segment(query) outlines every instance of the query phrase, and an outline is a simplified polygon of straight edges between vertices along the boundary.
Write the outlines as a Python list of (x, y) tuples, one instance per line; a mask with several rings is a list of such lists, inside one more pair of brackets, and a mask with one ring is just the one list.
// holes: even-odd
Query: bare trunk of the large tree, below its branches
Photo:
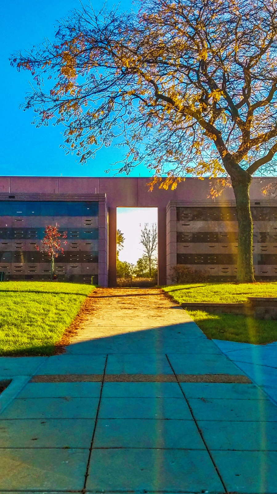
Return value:
[(237, 282), (253, 283), (253, 223), (250, 211), (249, 187), (251, 176), (243, 170), (240, 177), (232, 178), (232, 185), (236, 197), (238, 219), (238, 264)]

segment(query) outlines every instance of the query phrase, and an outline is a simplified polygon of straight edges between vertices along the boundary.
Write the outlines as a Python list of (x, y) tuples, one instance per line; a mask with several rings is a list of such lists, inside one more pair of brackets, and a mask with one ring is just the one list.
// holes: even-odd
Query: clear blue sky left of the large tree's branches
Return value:
[[(106, 1), (107, 7), (113, 4), (113, 0)], [(95, 9), (102, 5), (103, 0), (93, 2)], [(65, 155), (59, 147), (63, 143), (62, 127), (50, 124), (35, 128), (31, 124), (33, 111), (19, 109), (29, 90), (30, 74), (18, 73), (10, 67), (9, 56), (19, 49), (39, 44), (44, 37), (53, 39), (57, 20), (79, 6), (79, 0), (5, 0), (1, 3), (0, 175), (107, 176), (104, 170), (114, 161), (115, 153), (118, 156), (118, 150), (105, 148), (88, 165), (79, 165), (75, 156)], [(132, 1), (122, 0), (120, 8), (132, 8)], [(148, 176), (149, 172), (140, 165), (132, 175)]]

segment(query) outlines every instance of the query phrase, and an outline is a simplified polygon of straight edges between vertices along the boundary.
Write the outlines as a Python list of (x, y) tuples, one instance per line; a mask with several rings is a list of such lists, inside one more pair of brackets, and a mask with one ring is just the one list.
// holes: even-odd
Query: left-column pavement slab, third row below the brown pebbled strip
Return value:
[(0, 420), (0, 448), (90, 447), (94, 419)]

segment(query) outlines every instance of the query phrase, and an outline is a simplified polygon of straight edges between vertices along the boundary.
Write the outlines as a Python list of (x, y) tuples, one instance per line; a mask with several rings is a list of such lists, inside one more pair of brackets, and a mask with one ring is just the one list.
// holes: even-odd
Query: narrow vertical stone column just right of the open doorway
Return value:
[(170, 279), (171, 268), (177, 263), (176, 242), (176, 204), (169, 202), (167, 206), (167, 285), (172, 285)]

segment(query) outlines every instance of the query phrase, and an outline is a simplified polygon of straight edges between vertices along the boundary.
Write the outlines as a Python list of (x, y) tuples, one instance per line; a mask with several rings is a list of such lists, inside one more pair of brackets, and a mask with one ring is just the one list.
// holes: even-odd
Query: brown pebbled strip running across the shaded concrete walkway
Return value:
[(31, 383), (54, 382), (205, 382), (251, 384), (243, 374), (37, 374)]

